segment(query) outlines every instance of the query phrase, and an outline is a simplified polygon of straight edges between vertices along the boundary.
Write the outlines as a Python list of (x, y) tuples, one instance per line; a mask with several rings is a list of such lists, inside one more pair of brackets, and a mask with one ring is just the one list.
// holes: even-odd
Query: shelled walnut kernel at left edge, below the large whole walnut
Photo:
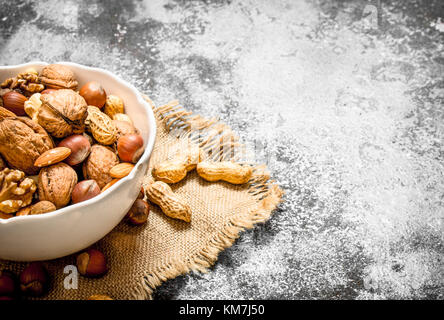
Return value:
[(36, 188), (35, 182), (25, 178), (23, 171), (3, 169), (0, 171), (0, 212), (14, 213), (26, 207)]

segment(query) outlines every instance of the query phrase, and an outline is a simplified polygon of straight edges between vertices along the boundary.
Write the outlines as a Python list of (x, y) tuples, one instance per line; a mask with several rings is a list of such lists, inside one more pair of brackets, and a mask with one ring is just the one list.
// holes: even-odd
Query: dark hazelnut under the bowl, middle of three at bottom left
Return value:
[(20, 290), (34, 297), (46, 293), (49, 284), (48, 272), (41, 262), (31, 262), (20, 274)]

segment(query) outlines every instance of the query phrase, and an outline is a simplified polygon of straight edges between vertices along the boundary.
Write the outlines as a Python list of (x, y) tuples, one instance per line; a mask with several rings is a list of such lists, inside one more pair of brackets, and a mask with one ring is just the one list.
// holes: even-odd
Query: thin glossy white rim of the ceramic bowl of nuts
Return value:
[[(42, 66), (46, 66), (49, 64), (50, 63), (44, 62), (44, 61), (31, 61), (31, 62), (17, 64), (17, 65), (11, 65), (11, 66), (1, 66), (0, 65), (0, 71), (1, 70), (8, 70), (8, 69), (23, 68), (23, 67), (33, 67), (33, 66), (42, 67)], [(86, 200), (86, 201), (83, 201), (80, 203), (68, 205), (66, 207), (63, 207), (63, 208), (57, 209), (53, 212), (48, 212), (45, 214), (38, 214), (38, 215), (31, 215), (31, 216), (18, 216), (18, 217), (14, 216), (9, 219), (0, 219), (0, 226), (1, 225), (8, 225), (8, 224), (22, 224), (22, 223), (26, 223), (27, 221), (38, 221), (38, 220), (51, 219), (51, 218), (58, 217), (60, 215), (64, 215), (70, 211), (82, 210), (84, 207), (87, 207), (93, 203), (99, 202), (103, 198), (105, 198), (108, 194), (116, 191), (119, 188), (119, 186), (121, 186), (125, 182), (133, 180), (135, 178), (136, 172), (140, 170), (140, 167), (142, 166), (142, 164), (149, 161), (149, 158), (150, 158), (151, 153), (153, 151), (154, 142), (156, 139), (156, 132), (157, 132), (154, 112), (153, 112), (151, 106), (148, 104), (148, 102), (142, 97), (142, 94), (139, 92), (139, 90), (136, 89), (136, 87), (134, 87), (131, 83), (123, 80), (121, 77), (115, 75), (114, 73), (112, 73), (108, 70), (102, 69), (102, 68), (89, 67), (89, 66), (85, 66), (85, 65), (82, 65), (79, 63), (69, 62), (69, 61), (59, 61), (59, 62), (55, 62), (54, 64), (62, 64), (62, 65), (66, 65), (68, 67), (73, 66), (76, 68), (83, 69), (85, 71), (99, 72), (99, 73), (102, 73), (102, 74), (112, 78), (119, 85), (125, 86), (128, 89), (130, 89), (130, 91), (132, 91), (134, 93), (134, 95), (136, 96), (137, 101), (143, 106), (143, 108), (145, 108), (147, 115), (148, 115), (148, 123), (149, 123), (150, 128), (148, 130), (148, 141), (146, 143), (145, 151), (142, 154), (142, 156), (140, 157), (139, 161), (137, 161), (133, 170), (131, 170), (131, 172), (128, 176), (121, 178), (111, 188), (108, 188), (104, 192), (101, 192), (98, 196), (95, 196), (94, 198), (91, 198), (89, 200)]]

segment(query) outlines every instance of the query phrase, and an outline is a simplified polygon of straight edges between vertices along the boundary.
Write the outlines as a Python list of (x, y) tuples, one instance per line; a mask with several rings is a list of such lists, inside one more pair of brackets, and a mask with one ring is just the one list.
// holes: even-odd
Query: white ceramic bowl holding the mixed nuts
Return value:
[[(121, 97), (145, 141), (145, 152), (127, 177), (88, 201), (34, 216), (0, 219), (0, 258), (14, 261), (49, 260), (80, 251), (103, 238), (125, 216), (140, 192), (142, 178), (154, 146), (156, 122), (151, 107), (131, 84), (112, 73), (70, 62), (59, 62), (74, 71), (79, 88), (98, 81), (107, 94)], [(40, 71), (47, 63), (0, 66), (0, 81), (27, 68)]]

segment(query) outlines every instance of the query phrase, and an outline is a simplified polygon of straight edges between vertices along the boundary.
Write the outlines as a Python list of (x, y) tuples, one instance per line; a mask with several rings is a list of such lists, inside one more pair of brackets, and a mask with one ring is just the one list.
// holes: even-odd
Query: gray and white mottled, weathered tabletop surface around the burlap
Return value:
[(157, 299), (443, 299), (443, 4), (0, 1), (0, 65), (106, 68), (268, 151), (285, 203)]

